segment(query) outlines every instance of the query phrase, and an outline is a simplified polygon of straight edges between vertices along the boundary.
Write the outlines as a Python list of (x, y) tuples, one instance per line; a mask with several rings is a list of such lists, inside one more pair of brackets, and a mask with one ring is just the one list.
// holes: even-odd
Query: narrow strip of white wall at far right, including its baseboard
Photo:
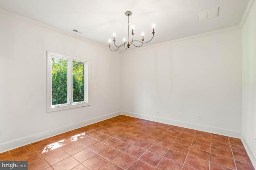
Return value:
[(256, 167), (256, 3), (242, 27), (242, 139)]

